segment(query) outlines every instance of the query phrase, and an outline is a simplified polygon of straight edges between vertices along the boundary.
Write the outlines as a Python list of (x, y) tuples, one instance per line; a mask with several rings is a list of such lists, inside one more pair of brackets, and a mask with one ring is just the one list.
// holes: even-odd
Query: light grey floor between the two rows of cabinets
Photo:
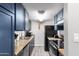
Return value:
[(31, 56), (49, 56), (49, 53), (44, 51), (44, 47), (34, 47)]

